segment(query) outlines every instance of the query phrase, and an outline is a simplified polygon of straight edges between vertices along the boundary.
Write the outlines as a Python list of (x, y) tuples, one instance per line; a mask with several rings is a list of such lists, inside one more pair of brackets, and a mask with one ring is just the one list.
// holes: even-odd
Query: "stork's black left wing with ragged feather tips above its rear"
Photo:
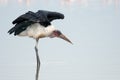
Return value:
[(19, 16), (15, 19), (12, 23), (15, 24), (13, 28), (11, 28), (8, 33), (14, 35), (19, 34), (20, 32), (24, 31), (29, 25), (37, 22), (37, 17), (34, 12), (28, 11), (27, 13)]

